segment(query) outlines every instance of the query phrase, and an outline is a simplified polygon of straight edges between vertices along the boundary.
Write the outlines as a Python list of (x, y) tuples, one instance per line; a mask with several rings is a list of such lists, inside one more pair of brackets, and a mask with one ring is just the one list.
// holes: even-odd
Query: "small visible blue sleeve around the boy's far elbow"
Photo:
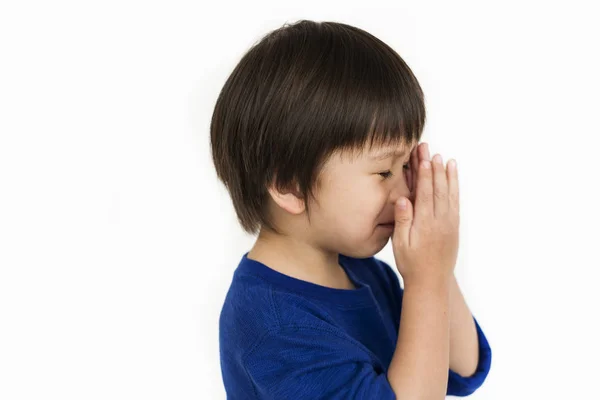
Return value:
[(473, 317), (473, 321), (475, 321), (475, 327), (477, 328), (477, 339), (479, 341), (479, 361), (477, 364), (477, 370), (473, 375), (464, 377), (450, 369), (448, 375), (448, 395), (460, 397), (470, 395), (483, 384), (483, 381), (490, 372), (492, 364), (492, 349), (475, 317)]

